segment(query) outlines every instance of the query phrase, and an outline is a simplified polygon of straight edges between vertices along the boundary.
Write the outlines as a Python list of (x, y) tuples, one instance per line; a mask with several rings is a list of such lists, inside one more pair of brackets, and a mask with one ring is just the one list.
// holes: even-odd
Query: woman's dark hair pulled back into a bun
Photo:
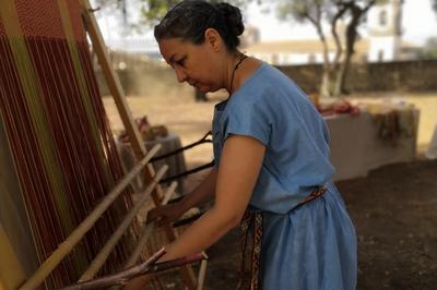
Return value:
[(155, 26), (154, 34), (157, 41), (180, 37), (200, 45), (208, 28), (216, 29), (231, 51), (238, 47), (238, 36), (245, 31), (245, 25), (239, 9), (234, 5), (188, 0), (173, 7)]

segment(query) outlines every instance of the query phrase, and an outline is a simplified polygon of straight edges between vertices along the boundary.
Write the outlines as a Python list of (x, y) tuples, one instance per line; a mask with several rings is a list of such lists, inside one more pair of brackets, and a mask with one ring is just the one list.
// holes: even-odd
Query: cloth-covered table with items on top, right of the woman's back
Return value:
[(412, 113), (414, 132), (411, 136), (400, 136), (395, 144), (378, 135), (378, 124), (367, 111), (355, 117), (326, 117), (331, 135), (331, 161), (336, 170), (334, 181), (365, 177), (383, 165), (414, 160), (420, 112), (417, 109), (405, 109), (404, 112)]

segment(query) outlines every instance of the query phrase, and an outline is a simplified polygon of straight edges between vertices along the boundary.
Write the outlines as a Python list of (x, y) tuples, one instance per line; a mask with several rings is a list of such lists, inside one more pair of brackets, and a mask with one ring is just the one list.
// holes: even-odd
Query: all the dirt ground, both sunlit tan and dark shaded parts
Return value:
[[(376, 94), (359, 99), (393, 95)], [(437, 289), (437, 160), (421, 157), (437, 123), (437, 94), (395, 96), (421, 109), (417, 160), (389, 165), (366, 178), (336, 183), (357, 230), (357, 289)], [(113, 100), (104, 101), (114, 130), (120, 131)], [(182, 144), (200, 138), (211, 126), (214, 105), (211, 101), (131, 97), (128, 102), (134, 117), (146, 114), (152, 124), (167, 125), (180, 135)], [(211, 147), (202, 145), (185, 158), (188, 168), (205, 164), (212, 158)], [(201, 174), (190, 178), (186, 184), (188, 191)], [(235, 289), (240, 259), (238, 231), (229, 232), (208, 254), (204, 289)]]

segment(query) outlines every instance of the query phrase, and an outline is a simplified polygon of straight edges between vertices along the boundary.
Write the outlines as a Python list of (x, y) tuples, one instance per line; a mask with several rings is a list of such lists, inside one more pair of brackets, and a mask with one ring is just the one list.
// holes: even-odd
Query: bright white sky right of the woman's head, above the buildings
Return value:
[[(423, 45), (428, 37), (437, 37), (437, 13), (432, 10), (432, 0), (404, 0), (402, 7), (403, 39)], [(245, 22), (257, 26), (261, 40), (318, 38), (312, 25), (281, 22), (274, 12), (263, 13), (262, 7), (250, 4)], [(262, 23), (262, 25), (261, 25)]]

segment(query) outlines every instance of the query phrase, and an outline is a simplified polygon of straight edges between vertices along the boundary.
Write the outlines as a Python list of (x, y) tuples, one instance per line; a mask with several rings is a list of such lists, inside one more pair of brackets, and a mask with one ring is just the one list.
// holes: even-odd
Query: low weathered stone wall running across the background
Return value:
[[(277, 67), (306, 93), (319, 90), (320, 64)], [(143, 65), (141, 69), (117, 71), (127, 95), (190, 94), (193, 89), (179, 84), (168, 65)], [(96, 72), (102, 95), (108, 94), (101, 71)], [(432, 92), (437, 90), (437, 60), (353, 64), (346, 76), (349, 92)]]

